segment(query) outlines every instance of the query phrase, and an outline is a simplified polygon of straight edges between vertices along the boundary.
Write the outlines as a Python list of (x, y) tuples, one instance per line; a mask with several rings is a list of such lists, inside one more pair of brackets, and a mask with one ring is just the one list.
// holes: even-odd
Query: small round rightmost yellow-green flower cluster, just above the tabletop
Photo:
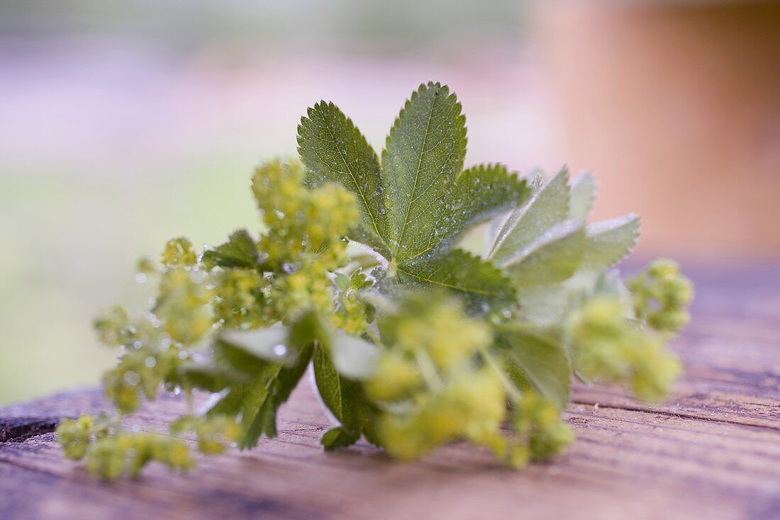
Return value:
[(690, 321), (688, 306), (693, 301), (693, 284), (679, 272), (679, 265), (668, 259), (655, 260), (630, 280), (637, 317), (668, 335)]

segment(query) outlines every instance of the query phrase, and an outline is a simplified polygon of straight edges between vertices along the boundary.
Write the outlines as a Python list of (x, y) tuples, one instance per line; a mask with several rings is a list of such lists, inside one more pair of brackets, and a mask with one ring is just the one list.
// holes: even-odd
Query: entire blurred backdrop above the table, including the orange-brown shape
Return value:
[(780, 3), (0, 0), (0, 405), (95, 384), (139, 256), (257, 218), (255, 164), (324, 98), (381, 150), (421, 82), (467, 163), (567, 163), (638, 256), (780, 260)]

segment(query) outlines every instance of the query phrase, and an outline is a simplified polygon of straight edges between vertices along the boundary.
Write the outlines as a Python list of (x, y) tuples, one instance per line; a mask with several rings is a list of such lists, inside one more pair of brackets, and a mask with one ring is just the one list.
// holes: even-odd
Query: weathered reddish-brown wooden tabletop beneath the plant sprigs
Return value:
[[(466, 445), (400, 463), (367, 444), (324, 453), (310, 384), (279, 437), (102, 484), (59, 453), (48, 421), (106, 410), (97, 389), (0, 409), (0, 519), (16, 518), (780, 518), (780, 269), (700, 272), (693, 324), (675, 348), (686, 376), (663, 405), (576, 387), (566, 455), (524, 472)], [(133, 419), (164, 428), (166, 397)], [(34, 425), (33, 437), (19, 429)], [(2, 428), (2, 426), (0, 426)], [(50, 429), (50, 428), (49, 428)], [(10, 432), (10, 428), (6, 428)], [(28, 432), (30, 433), (30, 432)]]

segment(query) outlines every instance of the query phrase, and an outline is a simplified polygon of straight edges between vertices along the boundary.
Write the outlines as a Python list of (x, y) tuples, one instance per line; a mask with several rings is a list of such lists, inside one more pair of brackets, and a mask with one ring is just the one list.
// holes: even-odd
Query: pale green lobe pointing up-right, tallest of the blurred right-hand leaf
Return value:
[(498, 228), (488, 259), (504, 267), (553, 226), (569, 217), (569, 171), (557, 175), (513, 210)]

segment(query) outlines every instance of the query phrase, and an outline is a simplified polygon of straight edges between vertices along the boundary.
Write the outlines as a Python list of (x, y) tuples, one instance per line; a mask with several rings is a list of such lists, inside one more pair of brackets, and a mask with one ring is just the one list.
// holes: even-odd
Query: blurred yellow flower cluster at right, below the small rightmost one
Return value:
[(567, 336), (575, 368), (591, 379), (627, 381), (637, 397), (656, 401), (679, 376), (679, 360), (661, 334), (625, 316), (617, 298), (592, 299), (573, 313)]

